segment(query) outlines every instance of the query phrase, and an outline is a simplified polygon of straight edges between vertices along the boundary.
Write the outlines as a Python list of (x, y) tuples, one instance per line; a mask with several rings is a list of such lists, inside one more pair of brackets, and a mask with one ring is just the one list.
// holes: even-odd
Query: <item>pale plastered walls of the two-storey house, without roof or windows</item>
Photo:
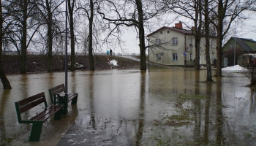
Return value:
[[(168, 31), (170, 31), (168, 33)], [(173, 45), (173, 38), (178, 38), (178, 45)], [(185, 39), (186, 38), (186, 39)], [(195, 59), (195, 38), (190, 35), (183, 34), (178, 31), (173, 31), (168, 28), (163, 28), (156, 33), (152, 34), (150, 37), (150, 55), (149, 60), (158, 64), (165, 64), (170, 66), (184, 66), (185, 59), (187, 61), (187, 66), (193, 65), (193, 60)], [(157, 39), (161, 40), (161, 45), (157, 45)], [(214, 39), (211, 39), (211, 42)], [(214, 40), (216, 41), (216, 40)], [(210, 42), (210, 44), (211, 44)], [(214, 46), (210, 49), (210, 56), (212, 57), (212, 51), (214, 51), (214, 58), (217, 58), (216, 52), (217, 42), (214, 42)], [(205, 39), (203, 38), (200, 42), (200, 64), (206, 64), (205, 60)], [(184, 56), (184, 52), (186, 56)], [(178, 61), (173, 61), (173, 53), (178, 56)], [(161, 55), (162, 54), (162, 55)], [(190, 55), (192, 54), (192, 55)], [(157, 61), (157, 55), (161, 55), (161, 60)], [(190, 58), (192, 56), (192, 58)], [(211, 59), (212, 61), (212, 59)]]

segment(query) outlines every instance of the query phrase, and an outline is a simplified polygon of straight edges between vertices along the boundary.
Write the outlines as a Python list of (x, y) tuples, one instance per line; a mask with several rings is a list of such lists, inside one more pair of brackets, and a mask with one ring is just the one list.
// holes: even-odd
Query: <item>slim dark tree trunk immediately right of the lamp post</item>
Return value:
[(74, 34), (74, 19), (73, 19), (73, 11), (74, 11), (74, 4), (75, 1), (72, 2), (71, 0), (68, 1), (69, 4), (69, 26), (70, 26), (70, 39), (71, 39), (71, 65), (70, 71), (75, 71), (75, 34)]

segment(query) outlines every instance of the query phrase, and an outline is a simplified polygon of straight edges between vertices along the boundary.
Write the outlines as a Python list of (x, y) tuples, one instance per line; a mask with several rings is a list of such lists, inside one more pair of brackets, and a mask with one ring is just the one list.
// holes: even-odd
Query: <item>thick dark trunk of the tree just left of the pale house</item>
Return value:
[(136, 0), (138, 10), (138, 29), (140, 39), (140, 70), (146, 70), (146, 47), (145, 47), (145, 31), (143, 24), (143, 8), (140, 0)]

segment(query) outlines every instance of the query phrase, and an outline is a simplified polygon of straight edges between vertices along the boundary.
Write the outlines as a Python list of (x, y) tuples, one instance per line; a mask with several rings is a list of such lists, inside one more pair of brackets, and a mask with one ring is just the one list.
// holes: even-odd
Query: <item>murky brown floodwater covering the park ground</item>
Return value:
[[(244, 74), (225, 71), (209, 83), (206, 70), (150, 71), (69, 72), (68, 92), (79, 93), (76, 130), (59, 145), (256, 145), (256, 92)], [(1, 139), (29, 131), (14, 102), (45, 92), (50, 103), (48, 89), (64, 83), (64, 72), (8, 79), (12, 89), (0, 89)]]

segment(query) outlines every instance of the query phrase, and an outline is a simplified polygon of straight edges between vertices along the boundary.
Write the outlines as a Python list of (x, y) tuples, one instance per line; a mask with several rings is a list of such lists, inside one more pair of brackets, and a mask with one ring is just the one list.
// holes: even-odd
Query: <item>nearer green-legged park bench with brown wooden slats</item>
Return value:
[[(23, 112), (31, 110), (39, 104), (45, 104), (45, 109), (37, 112), (32, 118), (26, 120), (21, 118)], [(38, 93), (29, 98), (15, 102), (16, 112), (18, 116), (18, 123), (31, 123), (31, 133), (29, 142), (38, 142), (42, 131), (42, 123), (54, 115), (54, 120), (61, 120), (63, 105), (48, 105), (45, 99), (45, 93)], [(24, 113), (25, 114), (25, 113)]]

